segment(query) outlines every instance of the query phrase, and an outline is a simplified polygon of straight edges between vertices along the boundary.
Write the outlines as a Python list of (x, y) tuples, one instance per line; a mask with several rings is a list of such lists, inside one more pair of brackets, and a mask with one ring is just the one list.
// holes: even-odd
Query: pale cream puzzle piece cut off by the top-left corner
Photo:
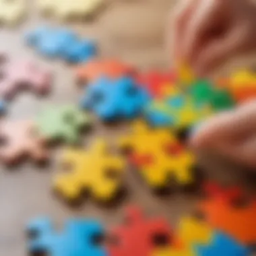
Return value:
[(22, 20), (26, 12), (26, 0), (0, 0), (0, 22), (15, 25)]

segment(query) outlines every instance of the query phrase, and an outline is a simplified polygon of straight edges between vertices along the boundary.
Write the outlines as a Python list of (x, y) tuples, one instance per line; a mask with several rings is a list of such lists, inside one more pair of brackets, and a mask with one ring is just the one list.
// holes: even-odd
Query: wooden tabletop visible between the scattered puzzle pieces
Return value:
[[(96, 13), (93, 19), (72, 22), (65, 26), (75, 29), (81, 35), (96, 38), (100, 46), (100, 57), (117, 57), (141, 70), (165, 70), (170, 65), (168, 53), (165, 51), (164, 35), (168, 13), (173, 4), (172, 0), (113, 0)], [(35, 9), (34, 1), (31, 1), (30, 8)], [(0, 30), (0, 49), (6, 51), (9, 57), (30, 57), (42, 66), (49, 67), (55, 75), (53, 91), (49, 96), (38, 98), (30, 93), (20, 94), (9, 104), (6, 119), (33, 119), (48, 103), (76, 104), (81, 95), (69, 65), (58, 60), (42, 59), (24, 45), (24, 32), (43, 22), (59, 26), (57, 21), (43, 20), (36, 11), (32, 11), (19, 28), (3, 27)], [(84, 145), (90, 145), (90, 141), (97, 136), (115, 141), (126, 129), (127, 125), (124, 124), (107, 127), (97, 122), (93, 131), (84, 136)], [(49, 215), (57, 224), (71, 216), (94, 217), (110, 226), (121, 222), (125, 205), (135, 203), (150, 214), (161, 214), (168, 219), (171, 226), (175, 226), (181, 215), (193, 210), (196, 195), (179, 192), (156, 196), (129, 171), (125, 179), (127, 197), (119, 204), (102, 207), (88, 199), (79, 207), (69, 207), (57, 199), (51, 189), (59, 152), (61, 147), (55, 149), (51, 163), (44, 168), (38, 168), (30, 162), (11, 170), (1, 166), (0, 255), (26, 255), (24, 226), (30, 218), (38, 215)], [(226, 172), (222, 164), (208, 166), (210, 168), (207, 168), (207, 173), (211, 177), (218, 177), (220, 173), (222, 181), (241, 183), (239, 172), (237, 175)]]

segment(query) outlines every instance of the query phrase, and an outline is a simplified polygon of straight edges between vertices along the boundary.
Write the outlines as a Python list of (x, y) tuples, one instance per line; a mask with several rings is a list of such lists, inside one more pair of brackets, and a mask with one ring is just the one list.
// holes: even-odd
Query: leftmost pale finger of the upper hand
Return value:
[(172, 57), (174, 59), (179, 59), (181, 55), (181, 41), (183, 38), (184, 28), (191, 16), (193, 15), (194, 10), (196, 9), (200, 0), (183, 0), (181, 4), (174, 10), (171, 17), (171, 33), (170, 39), (172, 39)]

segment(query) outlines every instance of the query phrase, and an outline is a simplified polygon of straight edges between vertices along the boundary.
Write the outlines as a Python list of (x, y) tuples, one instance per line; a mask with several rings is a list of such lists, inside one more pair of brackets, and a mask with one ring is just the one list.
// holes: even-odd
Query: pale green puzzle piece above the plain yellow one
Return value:
[(38, 115), (36, 124), (47, 141), (77, 143), (81, 130), (90, 126), (90, 118), (72, 105), (48, 106)]

